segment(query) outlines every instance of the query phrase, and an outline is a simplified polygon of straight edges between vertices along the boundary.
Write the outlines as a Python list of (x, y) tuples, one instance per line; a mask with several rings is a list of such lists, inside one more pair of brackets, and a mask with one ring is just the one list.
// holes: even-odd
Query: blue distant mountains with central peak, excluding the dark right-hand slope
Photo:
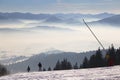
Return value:
[(83, 18), (98, 18), (104, 19), (114, 14), (101, 13), (101, 14), (32, 14), (32, 13), (0, 13), (0, 21), (4, 22), (20, 22), (19, 20), (42, 20), (45, 23), (80, 23)]

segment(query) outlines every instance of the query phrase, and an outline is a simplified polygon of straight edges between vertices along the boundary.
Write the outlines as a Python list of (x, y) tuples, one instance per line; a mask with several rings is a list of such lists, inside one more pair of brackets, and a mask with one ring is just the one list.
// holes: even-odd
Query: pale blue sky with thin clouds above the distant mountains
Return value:
[(120, 13), (120, 0), (0, 0), (0, 12)]

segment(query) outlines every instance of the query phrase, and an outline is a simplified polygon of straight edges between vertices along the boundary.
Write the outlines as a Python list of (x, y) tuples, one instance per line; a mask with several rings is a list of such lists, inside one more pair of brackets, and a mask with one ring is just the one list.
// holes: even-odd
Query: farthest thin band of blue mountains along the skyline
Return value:
[(19, 13), (19, 12), (13, 12), (13, 13), (0, 13), (0, 19), (32, 19), (32, 20), (42, 20), (42, 19), (49, 19), (51, 20), (52, 17), (54, 18), (60, 18), (60, 19), (70, 19), (70, 18), (107, 18), (110, 16), (113, 16), (114, 14), (110, 13), (100, 13), (100, 14), (32, 14), (32, 13)]

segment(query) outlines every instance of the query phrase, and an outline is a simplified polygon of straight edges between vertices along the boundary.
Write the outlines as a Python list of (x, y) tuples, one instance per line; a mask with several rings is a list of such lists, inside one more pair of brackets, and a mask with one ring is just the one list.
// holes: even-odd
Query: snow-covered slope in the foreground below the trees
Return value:
[(17, 73), (0, 77), (0, 80), (120, 80), (120, 66)]

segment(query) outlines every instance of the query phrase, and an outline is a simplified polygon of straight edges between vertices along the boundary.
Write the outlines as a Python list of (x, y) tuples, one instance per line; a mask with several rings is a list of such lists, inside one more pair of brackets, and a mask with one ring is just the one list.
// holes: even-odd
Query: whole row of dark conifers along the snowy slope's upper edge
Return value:
[[(63, 59), (62, 61), (58, 60), (55, 64), (55, 67), (51, 69), (43, 68), (42, 64), (39, 62), (38, 67), (39, 71), (51, 71), (51, 70), (69, 70), (69, 69), (82, 69), (82, 68), (96, 68), (96, 67), (107, 67), (107, 66), (114, 66), (120, 65), (120, 48), (115, 49), (113, 45), (106, 50), (105, 56), (102, 55), (102, 50), (98, 48), (96, 53), (90, 56), (88, 59), (87, 57), (84, 58), (83, 63), (78, 65), (76, 62), (74, 65), (71, 64), (67, 58)], [(28, 70), (28, 72), (30, 69)]]

